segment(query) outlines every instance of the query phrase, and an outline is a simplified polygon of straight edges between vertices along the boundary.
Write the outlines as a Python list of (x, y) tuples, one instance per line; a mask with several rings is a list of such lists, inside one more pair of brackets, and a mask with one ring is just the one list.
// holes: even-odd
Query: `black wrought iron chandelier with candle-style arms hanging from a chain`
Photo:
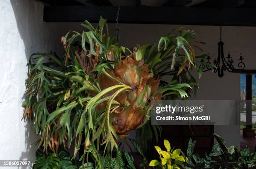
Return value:
[[(224, 43), (222, 42), (221, 40), (221, 36), (222, 36), (222, 30), (221, 30), (221, 26), (220, 26), (220, 42), (218, 43), (218, 58), (217, 60), (215, 59), (213, 64), (210, 62), (210, 56), (208, 55), (207, 56), (207, 63), (209, 64), (212, 64), (214, 65), (215, 67), (214, 68), (211, 68), (210, 66), (208, 65), (202, 65), (202, 71), (209, 71), (209, 70), (212, 70), (214, 71), (214, 73), (218, 72), (218, 76), (221, 78), (224, 76), (224, 71), (229, 71), (229, 72), (236, 72), (238, 70), (243, 70), (245, 68), (245, 64), (243, 63), (243, 57), (240, 53), (240, 58), (238, 60), (240, 60), (240, 62), (238, 63), (238, 67), (240, 69), (235, 69), (234, 66), (233, 66), (233, 59), (232, 57), (230, 56), (230, 52), (228, 51), (228, 56), (225, 58), (224, 56), (224, 48), (223, 48), (223, 45)], [(202, 62), (204, 62), (204, 59), (201, 60)]]

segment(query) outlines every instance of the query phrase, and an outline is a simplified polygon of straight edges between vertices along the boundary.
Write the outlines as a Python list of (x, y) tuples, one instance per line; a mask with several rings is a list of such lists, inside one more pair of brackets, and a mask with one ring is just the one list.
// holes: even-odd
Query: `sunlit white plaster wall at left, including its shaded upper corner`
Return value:
[[(59, 53), (63, 23), (44, 23), (43, 4), (35, 0), (0, 3), (0, 160), (33, 160), (38, 138), (21, 121), (29, 57), (34, 52)], [(68, 29), (68, 28), (67, 28)], [(1, 167), (0, 167), (1, 168)], [(13, 167), (15, 168), (15, 167)]]

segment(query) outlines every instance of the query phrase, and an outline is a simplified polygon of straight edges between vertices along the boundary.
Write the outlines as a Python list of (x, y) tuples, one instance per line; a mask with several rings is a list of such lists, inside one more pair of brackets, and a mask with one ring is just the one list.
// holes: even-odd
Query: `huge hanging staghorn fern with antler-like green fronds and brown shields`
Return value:
[[(142, 141), (150, 139), (151, 100), (192, 96), (198, 84), (189, 70), (201, 74), (200, 65), (207, 63), (201, 61), (205, 55), (195, 55), (189, 45), (195, 33), (185, 28), (172, 30), (158, 44), (130, 50), (109, 35), (105, 19), (96, 28), (88, 21), (82, 26), (87, 30), (61, 38), (62, 57), (32, 55), (23, 119), (32, 121), (44, 151), (56, 153), (74, 141), (74, 156), (84, 144), (84, 159), (99, 154), (100, 146), (111, 154), (130, 130), (140, 128)], [(173, 79), (167, 83), (164, 76)]]

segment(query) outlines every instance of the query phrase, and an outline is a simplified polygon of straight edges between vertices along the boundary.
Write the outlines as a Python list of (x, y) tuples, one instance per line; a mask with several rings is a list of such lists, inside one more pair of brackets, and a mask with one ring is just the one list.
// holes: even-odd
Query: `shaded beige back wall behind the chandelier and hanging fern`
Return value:
[[(206, 43), (206, 45), (200, 45), (204, 53), (210, 53), (212, 59), (217, 58), (218, 26), (120, 24), (120, 45), (132, 47), (136, 44), (158, 42), (162, 35), (180, 26), (195, 30), (196, 39)], [(110, 24), (110, 30), (115, 30), (115, 25)], [(242, 53), (246, 68), (256, 69), (256, 28), (223, 27), (222, 34), (225, 55), (229, 50), (235, 63), (238, 63), (239, 54)], [(196, 50), (196, 54), (200, 53), (202, 53), (200, 50)], [(240, 99), (240, 75), (238, 73), (225, 72), (224, 76), (219, 78), (216, 73), (208, 71), (202, 74), (198, 82), (200, 90), (197, 92), (196, 100)], [(222, 135), (228, 145), (240, 147), (239, 126), (215, 126), (215, 133)]]

